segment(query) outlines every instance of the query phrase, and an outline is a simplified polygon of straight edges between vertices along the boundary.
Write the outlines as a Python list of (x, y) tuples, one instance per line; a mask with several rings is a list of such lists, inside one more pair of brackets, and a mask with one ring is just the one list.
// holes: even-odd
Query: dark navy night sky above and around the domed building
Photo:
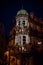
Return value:
[(12, 24), (12, 20), (17, 11), (22, 8), (28, 12), (34, 12), (34, 14), (43, 19), (43, 2), (42, 0), (1, 0), (0, 1), (0, 21), (5, 24), (6, 34), (9, 34), (9, 29)]

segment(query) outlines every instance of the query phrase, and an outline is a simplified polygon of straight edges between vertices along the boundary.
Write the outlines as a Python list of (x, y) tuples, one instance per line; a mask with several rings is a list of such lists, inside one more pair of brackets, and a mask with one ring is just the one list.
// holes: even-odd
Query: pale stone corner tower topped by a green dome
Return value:
[(23, 50), (24, 46), (30, 43), (28, 12), (24, 9), (17, 12), (15, 31), (15, 45), (19, 45)]

